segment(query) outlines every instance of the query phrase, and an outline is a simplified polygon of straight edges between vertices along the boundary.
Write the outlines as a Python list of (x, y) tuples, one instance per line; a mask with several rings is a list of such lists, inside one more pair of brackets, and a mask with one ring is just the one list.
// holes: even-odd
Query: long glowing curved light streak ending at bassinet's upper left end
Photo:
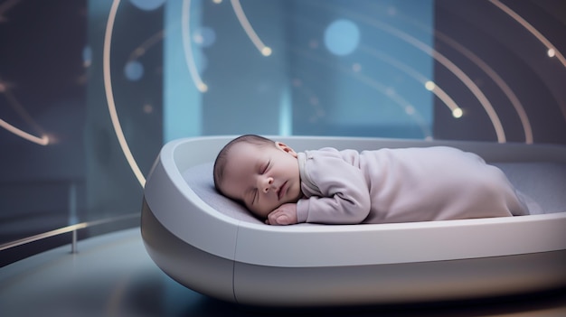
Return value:
[(118, 11), (119, 4), (120, 0), (114, 0), (112, 2), (110, 12), (108, 13), (106, 32), (104, 34), (104, 50), (102, 52), (104, 90), (106, 92), (108, 112), (110, 114), (110, 119), (112, 120), (112, 126), (114, 127), (114, 132), (118, 137), (118, 144), (120, 145), (124, 156), (126, 156), (127, 163), (132, 169), (132, 172), (134, 172), (134, 175), (136, 175), (137, 181), (141, 184), (142, 187), (144, 187), (146, 185), (146, 178), (144, 177), (144, 174), (139, 170), (136, 159), (132, 155), (127, 145), (126, 137), (124, 136), (124, 132), (122, 131), (122, 126), (120, 126), (118, 113), (116, 111), (116, 104), (114, 103), (114, 94), (112, 92), (112, 77), (110, 76), (110, 46), (112, 43), (112, 30), (114, 28), (114, 21), (116, 20), (116, 12)]

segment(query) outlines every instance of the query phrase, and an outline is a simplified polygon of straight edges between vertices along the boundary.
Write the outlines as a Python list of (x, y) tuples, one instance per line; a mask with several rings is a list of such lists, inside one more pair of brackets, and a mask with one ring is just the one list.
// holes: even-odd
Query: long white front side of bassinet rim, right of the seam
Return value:
[(566, 212), (497, 219), (266, 227), (241, 223), (236, 261), (284, 267), (369, 266), (566, 249)]

